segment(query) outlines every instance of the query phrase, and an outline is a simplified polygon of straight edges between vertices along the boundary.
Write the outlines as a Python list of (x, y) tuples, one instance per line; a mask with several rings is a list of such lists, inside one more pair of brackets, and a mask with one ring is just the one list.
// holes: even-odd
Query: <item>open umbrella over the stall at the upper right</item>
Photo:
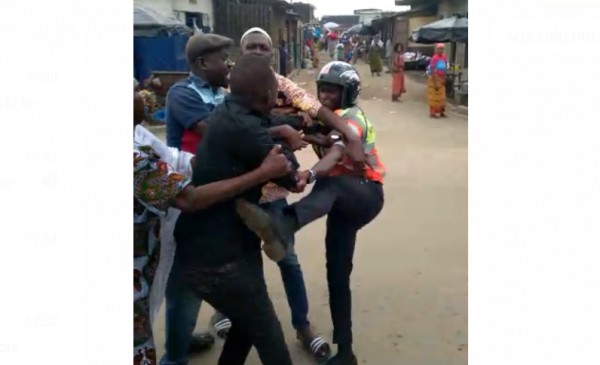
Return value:
[(423, 44), (467, 42), (468, 39), (468, 18), (458, 15), (424, 25), (410, 36), (411, 41)]

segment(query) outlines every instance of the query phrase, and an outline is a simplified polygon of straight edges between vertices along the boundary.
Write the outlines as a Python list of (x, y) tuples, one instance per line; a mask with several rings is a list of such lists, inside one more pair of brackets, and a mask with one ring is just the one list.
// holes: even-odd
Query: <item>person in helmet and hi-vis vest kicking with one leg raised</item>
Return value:
[(317, 85), (321, 103), (340, 114), (361, 137), (368, 154), (367, 169), (355, 170), (345, 157), (344, 143), (337, 139), (331, 148), (318, 150), (320, 160), (312, 169), (298, 174), (299, 188), (315, 184), (306, 197), (282, 214), (247, 200), (238, 200), (237, 212), (263, 240), (274, 242), (286, 242), (302, 227), (327, 215), (327, 282), (333, 342), (338, 345), (338, 353), (327, 365), (357, 365), (352, 349), (350, 274), (356, 235), (383, 208), (385, 167), (375, 147), (373, 125), (356, 105), (358, 72), (347, 63), (332, 62), (321, 70)]

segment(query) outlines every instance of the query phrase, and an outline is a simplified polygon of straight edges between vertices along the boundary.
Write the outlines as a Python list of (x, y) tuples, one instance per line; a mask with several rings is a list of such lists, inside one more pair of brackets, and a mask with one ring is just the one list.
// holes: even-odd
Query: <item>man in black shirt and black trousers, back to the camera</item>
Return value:
[[(208, 119), (196, 154), (192, 183), (210, 184), (244, 174), (260, 165), (274, 142), (269, 113), (275, 105), (277, 80), (270, 59), (242, 56), (231, 70), (231, 93)], [(295, 161), (293, 152), (284, 154)], [(296, 187), (296, 177), (274, 180)], [(258, 203), (265, 184), (240, 196)], [(242, 365), (254, 346), (264, 365), (291, 365), (283, 331), (267, 293), (260, 239), (237, 217), (235, 198), (191, 214), (175, 227), (176, 260), (192, 290), (231, 320), (219, 365)], [(266, 242), (263, 250), (277, 259), (283, 247)]]

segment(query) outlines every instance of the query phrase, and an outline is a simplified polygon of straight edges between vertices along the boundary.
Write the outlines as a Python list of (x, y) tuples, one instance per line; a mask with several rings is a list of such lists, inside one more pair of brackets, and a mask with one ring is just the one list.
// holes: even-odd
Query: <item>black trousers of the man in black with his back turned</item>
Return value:
[(220, 268), (185, 268), (194, 292), (231, 320), (219, 365), (242, 365), (252, 346), (263, 365), (292, 365), (281, 324), (267, 293), (262, 255)]

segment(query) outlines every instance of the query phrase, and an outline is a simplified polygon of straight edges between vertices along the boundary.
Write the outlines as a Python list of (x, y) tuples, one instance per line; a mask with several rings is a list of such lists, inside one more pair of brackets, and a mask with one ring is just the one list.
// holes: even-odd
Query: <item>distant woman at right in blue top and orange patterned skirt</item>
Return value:
[(427, 101), (431, 118), (446, 117), (446, 74), (448, 57), (444, 54), (444, 44), (435, 45), (427, 77)]

